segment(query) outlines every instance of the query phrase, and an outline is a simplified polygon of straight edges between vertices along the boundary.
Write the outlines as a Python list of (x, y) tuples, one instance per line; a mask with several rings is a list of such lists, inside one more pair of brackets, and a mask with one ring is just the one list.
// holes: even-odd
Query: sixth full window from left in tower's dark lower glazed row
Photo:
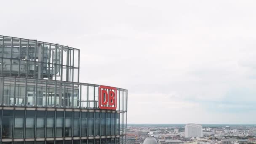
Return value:
[(64, 112), (56, 112), (56, 137), (63, 137)]

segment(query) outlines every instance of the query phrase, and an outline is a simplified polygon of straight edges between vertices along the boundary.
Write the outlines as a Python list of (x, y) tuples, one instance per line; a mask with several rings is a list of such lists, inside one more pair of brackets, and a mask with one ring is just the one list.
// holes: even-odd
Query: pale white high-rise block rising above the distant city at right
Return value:
[(185, 125), (185, 137), (203, 137), (203, 127), (202, 125), (189, 123)]

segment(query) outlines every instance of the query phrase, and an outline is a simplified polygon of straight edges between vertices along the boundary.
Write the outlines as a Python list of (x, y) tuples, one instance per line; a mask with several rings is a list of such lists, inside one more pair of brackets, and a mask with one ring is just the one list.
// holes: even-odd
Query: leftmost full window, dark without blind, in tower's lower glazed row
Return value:
[(3, 135), (2, 138), (12, 138), (13, 110), (3, 110)]

